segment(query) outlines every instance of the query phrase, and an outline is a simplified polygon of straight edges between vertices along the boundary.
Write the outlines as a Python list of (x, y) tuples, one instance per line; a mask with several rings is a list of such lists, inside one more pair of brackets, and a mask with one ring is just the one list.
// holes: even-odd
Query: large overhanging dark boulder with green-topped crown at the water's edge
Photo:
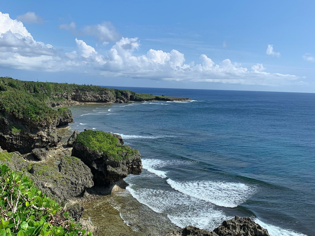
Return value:
[[(117, 152), (119, 156), (113, 158), (109, 153), (101, 152), (99, 150), (92, 150), (87, 143), (79, 142), (84, 138), (89, 141), (93, 140), (94, 132), (102, 135), (101, 139), (106, 143), (108, 136), (112, 134), (104, 133), (102, 131), (86, 130), (80, 133), (73, 144), (72, 156), (80, 158), (92, 171), (93, 180), (97, 184), (110, 185), (112, 182), (120, 181), (127, 177), (128, 174), (140, 174), (142, 172), (141, 156), (138, 150), (131, 149), (129, 146), (122, 145), (118, 138), (110, 139), (108, 142), (116, 142)], [(89, 135), (91, 135), (89, 137)], [(121, 137), (120, 137), (121, 139)], [(122, 140), (122, 139), (121, 139)], [(105, 145), (102, 143), (101, 145)], [(120, 150), (121, 149), (121, 150)], [(125, 151), (128, 150), (128, 151)]]

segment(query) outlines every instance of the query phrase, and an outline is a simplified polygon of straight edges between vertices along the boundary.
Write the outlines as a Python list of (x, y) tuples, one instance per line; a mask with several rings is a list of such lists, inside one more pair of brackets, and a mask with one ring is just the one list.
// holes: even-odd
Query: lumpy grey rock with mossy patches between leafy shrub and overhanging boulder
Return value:
[(91, 170), (76, 157), (63, 157), (58, 166), (33, 163), (27, 167), (31, 179), (57, 201), (77, 197), (94, 185)]

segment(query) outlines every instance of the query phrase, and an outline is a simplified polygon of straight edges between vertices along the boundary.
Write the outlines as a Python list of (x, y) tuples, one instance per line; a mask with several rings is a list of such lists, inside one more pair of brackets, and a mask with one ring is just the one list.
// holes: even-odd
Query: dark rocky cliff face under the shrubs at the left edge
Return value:
[(22, 154), (31, 152), (34, 148), (54, 146), (61, 140), (56, 134), (56, 124), (56, 120), (37, 122), (3, 112), (0, 115), (0, 146)]

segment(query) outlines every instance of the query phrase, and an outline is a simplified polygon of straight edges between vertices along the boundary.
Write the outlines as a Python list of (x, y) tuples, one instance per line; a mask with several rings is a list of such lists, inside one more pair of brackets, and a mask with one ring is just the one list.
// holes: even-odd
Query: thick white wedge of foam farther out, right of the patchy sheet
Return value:
[(179, 192), (223, 207), (237, 207), (257, 190), (255, 186), (243, 183), (220, 181), (179, 182), (168, 179), (167, 183)]

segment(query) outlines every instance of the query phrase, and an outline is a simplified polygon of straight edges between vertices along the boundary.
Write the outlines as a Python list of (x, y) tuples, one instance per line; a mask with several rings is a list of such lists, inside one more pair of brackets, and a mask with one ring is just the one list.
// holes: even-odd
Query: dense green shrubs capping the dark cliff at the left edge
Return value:
[(17, 90), (0, 92), (0, 110), (19, 119), (28, 117), (37, 122), (52, 122), (57, 119), (57, 112), (47, 104), (38, 101), (26, 92)]

